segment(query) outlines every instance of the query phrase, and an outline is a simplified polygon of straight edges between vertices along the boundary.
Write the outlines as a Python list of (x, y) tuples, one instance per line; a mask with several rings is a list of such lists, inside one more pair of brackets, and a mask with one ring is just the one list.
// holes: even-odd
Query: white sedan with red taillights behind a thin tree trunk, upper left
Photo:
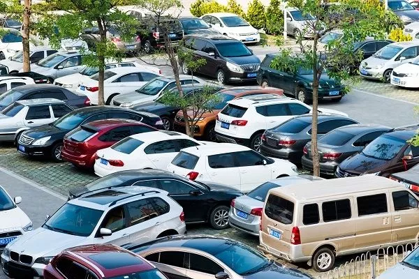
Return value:
[[(158, 73), (153, 70), (137, 68), (137, 67), (122, 67), (105, 70), (105, 77), (103, 82), (105, 104), (110, 105), (112, 98), (119, 94), (133, 92), (146, 84), (154, 77), (159, 77)], [(99, 74), (96, 73), (91, 77), (83, 80), (77, 89), (78, 93), (86, 95), (92, 105), (98, 105), (98, 91), (99, 91)]]

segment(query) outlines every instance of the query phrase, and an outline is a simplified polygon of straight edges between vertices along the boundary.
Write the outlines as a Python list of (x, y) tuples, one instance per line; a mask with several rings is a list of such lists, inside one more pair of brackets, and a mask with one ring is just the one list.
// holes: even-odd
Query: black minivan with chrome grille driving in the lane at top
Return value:
[[(196, 73), (216, 77), (221, 84), (255, 81), (260, 60), (244, 43), (223, 35), (185, 36), (184, 47), (193, 50), (196, 59), (207, 63)], [(179, 61), (182, 73), (190, 70)]]

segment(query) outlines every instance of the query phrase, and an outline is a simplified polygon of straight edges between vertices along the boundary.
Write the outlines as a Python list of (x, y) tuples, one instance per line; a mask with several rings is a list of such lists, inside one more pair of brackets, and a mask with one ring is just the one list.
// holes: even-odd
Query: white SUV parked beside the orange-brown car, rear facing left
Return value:
[[(295, 115), (309, 114), (313, 109), (294, 98), (274, 94), (244, 96), (227, 103), (216, 116), (217, 140), (243, 144), (256, 151), (260, 151), (260, 137), (265, 130), (274, 128)], [(348, 116), (336, 110), (320, 111)]]

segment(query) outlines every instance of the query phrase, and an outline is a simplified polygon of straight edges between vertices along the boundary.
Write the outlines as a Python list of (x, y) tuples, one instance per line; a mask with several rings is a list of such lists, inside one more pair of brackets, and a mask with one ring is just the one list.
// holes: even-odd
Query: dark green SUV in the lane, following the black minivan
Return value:
[[(267, 54), (260, 63), (256, 77), (258, 84), (283, 89), (284, 94), (291, 95), (306, 104), (311, 103), (313, 101), (313, 70), (300, 68), (297, 73), (274, 70), (270, 67), (274, 57), (275, 54)], [(322, 73), (320, 86), (318, 87), (318, 98), (339, 102), (343, 95), (344, 86), (326, 73)]]

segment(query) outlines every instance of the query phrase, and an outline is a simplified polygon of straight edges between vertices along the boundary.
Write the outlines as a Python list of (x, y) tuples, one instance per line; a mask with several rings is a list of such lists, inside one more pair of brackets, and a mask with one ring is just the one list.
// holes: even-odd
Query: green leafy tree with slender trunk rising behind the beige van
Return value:
[[(337, 82), (351, 80), (353, 77), (349, 74), (349, 66), (360, 59), (360, 54), (354, 54), (352, 51), (353, 44), (365, 40), (367, 36), (377, 39), (385, 38), (387, 18), (379, 0), (341, 0), (339, 5), (333, 5), (328, 10), (322, 7), (321, 0), (288, 0), (286, 4), (290, 8), (301, 10), (303, 15), (312, 15), (316, 18), (316, 20), (307, 23), (300, 37), (297, 38), (300, 45), (297, 54), (292, 54), (289, 49), (282, 47), (277, 57), (272, 61), (271, 66), (278, 70), (291, 70), (292, 72), (295, 72), (298, 68), (312, 70), (312, 96), (309, 96), (309, 93), (304, 89), (297, 89), (295, 96), (300, 100), (308, 100), (309, 98), (313, 100), (311, 156), (313, 158), (314, 175), (318, 176), (318, 88), (321, 75), (326, 71)], [(332, 20), (331, 15), (339, 15), (339, 20)], [(320, 19), (329, 20), (323, 20), (322, 22)], [(332, 29), (341, 29), (343, 36), (330, 41), (323, 50), (319, 47), (318, 40), (324, 31)], [(309, 43), (303, 43), (302, 38), (304, 36), (311, 36), (313, 40)]]

